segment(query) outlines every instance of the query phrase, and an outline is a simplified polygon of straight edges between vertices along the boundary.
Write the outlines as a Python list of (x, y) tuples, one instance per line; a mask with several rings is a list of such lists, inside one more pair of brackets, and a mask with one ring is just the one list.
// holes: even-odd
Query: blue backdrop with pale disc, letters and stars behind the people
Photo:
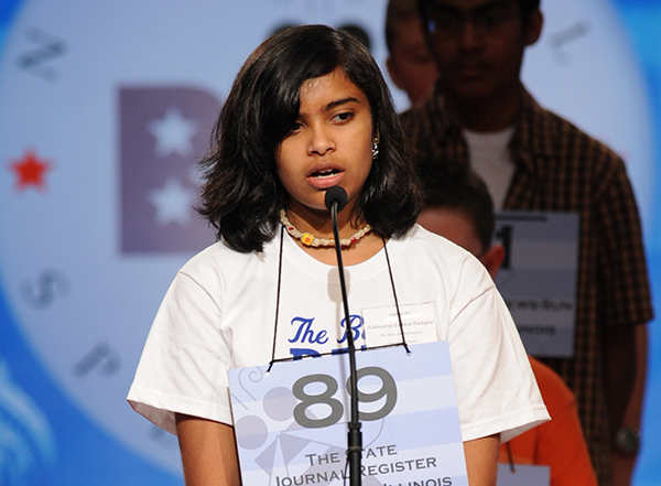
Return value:
[[(384, 58), (383, 0), (112, 3), (0, 2), (2, 485), (183, 484), (176, 441), (132, 413), (124, 397), (174, 271), (212, 238), (173, 202), (192, 197), (197, 177), (191, 168), (204, 150), (213, 115), (240, 63), (284, 24), (358, 25), (375, 57), (381, 64)], [(594, 48), (608, 51), (585, 55), (616, 60), (604, 67), (614, 74), (577, 61), (588, 41), (549, 52), (541, 42), (525, 66), (535, 96), (631, 160), (655, 309), (661, 304), (661, 225), (653, 216), (661, 209), (654, 190), (661, 173), (658, 3), (582, 0), (577, 7), (546, 0), (548, 39), (572, 32), (554, 17), (570, 11), (575, 14), (570, 28), (603, 39)], [(542, 65), (554, 66), (553, 84), (539, 79), (549, 77)], [(559, 85), (581, 80), (602, 97), (595, 106), (606, 115), (589, 105), (572, 111), (590, 102), (589, 96), (572, 98)], [(554, 98), (553, 91), (563, 96)], [(401, 94), (395, 101), (405, 107)], [(130, 125), (134, 114), (144, 115), (142, 128)], [(153, 170), (136, 172), (138, 160)], [(189, 237), (177, 240), (182, 228)], [(650, 326), (643, 446), (635, 479), (640, 486), (661, 484), (657, 327)]]

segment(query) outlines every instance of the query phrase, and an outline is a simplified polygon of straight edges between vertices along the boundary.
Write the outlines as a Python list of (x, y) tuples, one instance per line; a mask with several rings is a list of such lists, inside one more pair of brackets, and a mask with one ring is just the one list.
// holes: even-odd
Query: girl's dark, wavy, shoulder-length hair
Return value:
[(351, 34), (303, 25), (273, 34), (248, 57), (201, 161), (204, 183), (197, 210), (230, 248), (261, 251), (275, 236), (289, 197), (277, 174), (278, 148), (297, 119), (301, 85), (337, 67), (366, 95), (379, 137), (378, 159), (351, 217), (364, 218), (387, 238), (415, 223), (422, 192), (381, 72)]

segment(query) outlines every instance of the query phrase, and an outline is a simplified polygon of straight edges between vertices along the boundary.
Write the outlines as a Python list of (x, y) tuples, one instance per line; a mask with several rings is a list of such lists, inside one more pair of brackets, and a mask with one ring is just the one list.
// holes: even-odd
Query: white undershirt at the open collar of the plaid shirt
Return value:
[(514, 127), (489, 133), (464, 130), (470, 166), (487, 184), (496, 210), (502, 209), (514, 175), (514, 163), (508, 149), (512, 134)]

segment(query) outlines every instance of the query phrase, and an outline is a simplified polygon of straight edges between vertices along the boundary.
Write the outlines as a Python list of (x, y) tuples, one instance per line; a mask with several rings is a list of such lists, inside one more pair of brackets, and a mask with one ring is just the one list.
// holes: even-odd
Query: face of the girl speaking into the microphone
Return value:
[(296, 123), (280, 143), (275, 158), (278, 175), (290, 195), (288, 210), (299, 216), (308, 210), (326, 212), (326, 190), (340, 185), (347, 192), (350, 212), (372, 163), (367, 97), (337, 68), (304, 82), (300, 100)]

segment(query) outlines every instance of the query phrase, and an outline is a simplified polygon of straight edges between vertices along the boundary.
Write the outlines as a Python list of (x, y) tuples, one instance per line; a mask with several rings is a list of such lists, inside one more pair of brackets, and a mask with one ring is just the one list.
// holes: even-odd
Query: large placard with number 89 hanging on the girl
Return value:
[[(467, 485), (447, 342), (359, 352), (362, 484)], [(343, 485), (348, 356), (229, 371), (243, 484)]]

